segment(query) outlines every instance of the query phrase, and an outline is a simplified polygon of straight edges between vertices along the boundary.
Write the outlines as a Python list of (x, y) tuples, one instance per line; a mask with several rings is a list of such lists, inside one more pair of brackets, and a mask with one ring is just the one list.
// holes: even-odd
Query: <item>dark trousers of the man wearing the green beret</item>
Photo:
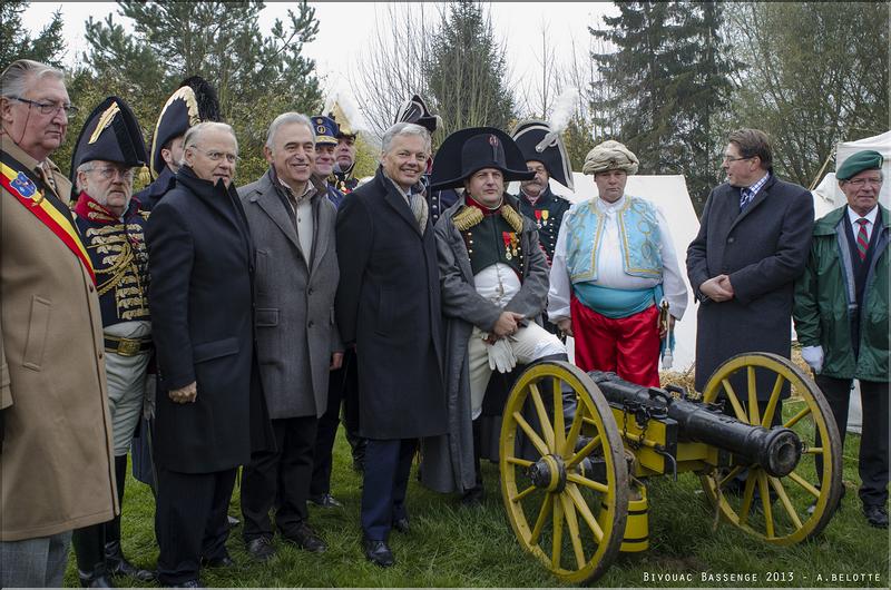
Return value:
[[(816, 385), (823, 392), (835, 416), (842, 448), (848, 430), (848, 403), (853, 380), (816, 376)], [(860, 439), (860, 500), (864, 505), (883, 507), (888, 502), (888, 396), (891, 384), (873, 381), (860, 382), (860, 402), (863, 407), (863, 433)], [(817, 442), (817, 444), (820, 444)], [(817, 470), (822, 472), (822, 462)]]

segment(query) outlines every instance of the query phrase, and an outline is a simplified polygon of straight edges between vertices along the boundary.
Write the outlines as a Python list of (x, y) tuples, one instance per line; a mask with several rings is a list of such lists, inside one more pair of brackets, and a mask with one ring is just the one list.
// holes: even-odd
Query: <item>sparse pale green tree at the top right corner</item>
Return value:
[(728, 16), (747, 65), (737, 126), (772, 136), (780, 175), (810, 186), (838, 141), (888, 130), (887, 2), (756, 2)]

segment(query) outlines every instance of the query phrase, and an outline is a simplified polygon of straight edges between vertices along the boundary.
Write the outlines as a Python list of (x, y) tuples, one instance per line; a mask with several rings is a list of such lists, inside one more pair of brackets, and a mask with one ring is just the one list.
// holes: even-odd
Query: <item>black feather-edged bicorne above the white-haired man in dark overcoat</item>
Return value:
[(155, 125), (149, 165), (151, 177), (157, 178), (166, 166), (160, 150), (168, 141), (185, 135), (193, 125), (219, 119), (219, 100), (214, 88), (200, 76), (183, 80), (167, 99)]

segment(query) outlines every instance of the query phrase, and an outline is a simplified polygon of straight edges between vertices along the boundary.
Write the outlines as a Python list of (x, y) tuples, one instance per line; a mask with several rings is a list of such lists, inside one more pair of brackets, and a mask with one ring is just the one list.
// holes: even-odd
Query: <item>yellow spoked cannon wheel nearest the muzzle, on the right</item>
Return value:
[[(735, 391), (731, 377), (737, 386), (745, 383), (745, 391)], [(775, 478), (757, 466), (734, 465), (702, 475), (706, 495), (726, 520), (780, 545), (819, 534), (839, 503), (842, 451), (829, 404), (802, 370), (770, 353), (734, 356), (714, 372), (703, 392), (705, 402), (724, 397), (737, 420), (770, 427), (786, 384), (792, 396), (782, 402), (787, 417), (781, 423), (794, 430), (803, 445), (795, 470)], [(756, 403), (758, 392), (770, 392), (763, 415)], [(817, 461), (823, 463), (822, 475)]]

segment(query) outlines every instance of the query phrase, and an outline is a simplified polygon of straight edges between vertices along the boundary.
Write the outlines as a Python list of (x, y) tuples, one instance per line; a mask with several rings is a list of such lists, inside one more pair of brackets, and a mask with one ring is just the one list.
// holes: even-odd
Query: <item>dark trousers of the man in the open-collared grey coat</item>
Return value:
[(242, 514), (244, 539), (272, 537), (270, 511), (275, 527), (290, 537), (309, 518), (306, 499), (313, 471), (313, 449), (319, 420), (315, 416), (272, 421), (275, 451), (254, 453), (242, 472)]

